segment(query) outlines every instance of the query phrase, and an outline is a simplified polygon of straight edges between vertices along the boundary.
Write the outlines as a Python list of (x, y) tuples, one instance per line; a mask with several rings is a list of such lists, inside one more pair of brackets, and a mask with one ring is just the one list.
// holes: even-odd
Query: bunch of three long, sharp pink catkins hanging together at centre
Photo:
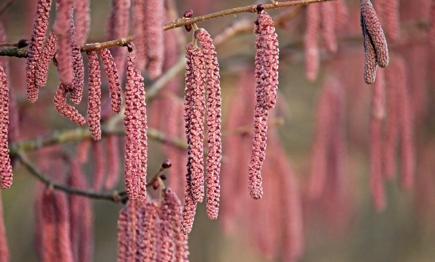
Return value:
[(205, 89), (207, 92), (207, 142), (208, 154), (206, 158), (206, 187), (208, 218), (217, 217), (219, 206), (219, 171), (221, 158), (220, 116), (221, 98), (219, 81), (219, 64), (216, 51), (208, 32), (203, 28), (196, 28), (196, 42), (186, 46), (186, 74), (185, 74), (185, 102), (184, 121), (188, 143), (188, 161), (186, 172), (186, 191), (184, 197), (183, 219), (181, 231), (191, 230), (196, 202), (204, 197), (203, 170), (203, 138), (205, 118)]

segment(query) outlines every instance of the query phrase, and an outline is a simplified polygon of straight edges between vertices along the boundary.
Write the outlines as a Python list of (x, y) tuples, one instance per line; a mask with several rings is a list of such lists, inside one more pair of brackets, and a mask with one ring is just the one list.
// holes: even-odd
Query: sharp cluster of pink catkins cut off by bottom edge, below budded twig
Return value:
[(118, 261), (188, 261), (180, 232), (181, 202), (164, 188), (162, 200), (128, 201), (118, 219)]

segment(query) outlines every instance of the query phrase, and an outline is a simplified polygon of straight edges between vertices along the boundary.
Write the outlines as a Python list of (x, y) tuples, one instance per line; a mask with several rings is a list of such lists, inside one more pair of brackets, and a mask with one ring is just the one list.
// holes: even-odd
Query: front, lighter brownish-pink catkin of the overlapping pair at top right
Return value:
[(363, 21), (363, 24), (365, 25), (363, 28), (365, 27), (366, 35), (369, 36), (373, 44), (374, 51), (376, 52), (376, 61), (380, 67), (385, 67), (388, 65), (389, 59), (388, 47), (386, 45), (385, 35), (383, 34), (379, 19), (377, 18), (370, 0), (361, 0), (360, 7), (361, 21)]

